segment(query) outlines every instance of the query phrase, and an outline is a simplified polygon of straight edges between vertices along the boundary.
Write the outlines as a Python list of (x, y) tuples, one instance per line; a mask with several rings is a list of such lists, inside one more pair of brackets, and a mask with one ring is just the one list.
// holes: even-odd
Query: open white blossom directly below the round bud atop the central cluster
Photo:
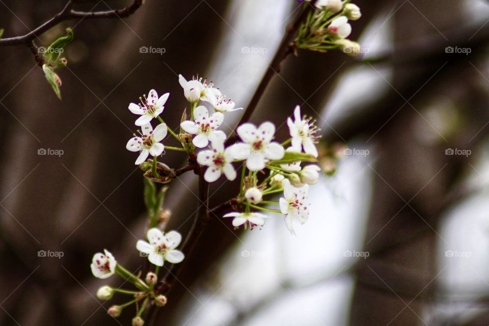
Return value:
[(226, 134), (217, 130), (224, 121), (221, 112), (215, 112), (209, 116), (205, 106), (198, 106), (194, 111), (194, 121), (183, 121), (180, 126), (191, 134), (197, 134), (192, 141), (196, 147), (204, 148), (210, 142), (225, 141)]

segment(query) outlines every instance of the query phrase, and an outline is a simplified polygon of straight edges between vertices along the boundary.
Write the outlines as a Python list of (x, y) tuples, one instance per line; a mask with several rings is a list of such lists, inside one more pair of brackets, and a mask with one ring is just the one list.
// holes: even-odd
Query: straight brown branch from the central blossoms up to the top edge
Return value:
[[(268, 68), (265, 71), (265, 74), (263, 75), (260, 84), (258, 85), (257, 89), (255, 90), (255, 93), (253, 94), (253, 97), (250, 100), (250, 103), (248, 103), (248, 106), (246, 108), (246, 111), (244, 111), (243, 116), (239, 120), (237, 126), (239, 126), (241, 123), (249, 121), (253, 113), (255, 112), (255, 109), (260, 102), (261, 97), (265, 93), (265, 90), (270, 83), (271, 78), (276, 74), (280, 72), (280, 65), (282, 64), (282, 61), (287, 58), (290, 53), (293, 53), (295, 48), (293, 44), (293, 40), (295, 37), (295, 34), (301, 25), (301, 23), (305, 20), (307, 14), (309, 13), (310, 10), (314, 10), (316, 2), (318, 0), (313, 0), (311, 3), (308, 4), (308, 6), (302, 10), (300, 14), (297, 15), (297, 17), (292, 21), (291, 24), (287, 26), (286, 33), (284, 37), (282, 38), (282, 41), (279, 44), (279, 47), (277, 48), (277, 51), (275, 52), (274, 58), (271, 60), (270, 64), (268, 65)], [(236, 141), (236, 129), (229, 135), (226, 145), (229, 145), (233, 141)]]

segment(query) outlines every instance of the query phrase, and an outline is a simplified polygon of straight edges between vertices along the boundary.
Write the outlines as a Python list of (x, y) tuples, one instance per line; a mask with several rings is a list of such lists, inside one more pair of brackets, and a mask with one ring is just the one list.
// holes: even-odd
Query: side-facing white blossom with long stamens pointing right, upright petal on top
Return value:
[(289, 126), (290, 137), (292, 137), (292, 147), (300, 150), (304, 148), (304, 152), (314, 157), (317, 157), (317, 149), (314, 143), (317, 142), (316, 132), (319, 130), (311, 119), (301, 117), (301, 107), (296, 106), (294, 110), (294, 121), (291, 118), (287, 119)]

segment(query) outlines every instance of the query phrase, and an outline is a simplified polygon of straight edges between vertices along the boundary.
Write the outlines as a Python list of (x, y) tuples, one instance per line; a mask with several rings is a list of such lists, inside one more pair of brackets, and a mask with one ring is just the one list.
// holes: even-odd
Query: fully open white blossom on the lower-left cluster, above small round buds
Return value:
[(138, 240), (136, 248), (148, 254), (148, 260), (156, 266), (163, 266), (166, 261), (176, 264), (185, 258), (183, 253), (175, 250), (182, 240), (182, 236), (177, 231), (170, 231), (163, 234), (158, 228), (152, 228), (147, 233), (148, 242)]

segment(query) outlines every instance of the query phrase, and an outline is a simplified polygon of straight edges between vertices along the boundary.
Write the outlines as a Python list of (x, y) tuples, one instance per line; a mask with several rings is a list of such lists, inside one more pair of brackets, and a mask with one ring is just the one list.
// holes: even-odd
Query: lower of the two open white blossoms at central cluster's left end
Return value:
[(141, 151), (138, 159), (134, 162), (135, 165), (140, 165), (144, 162), (148, 155), (159, 156), (165, 150), (165, 146), (160, 143), (166, 136), (168, 132), (167, 125), (160, 123), (156, 128), (147, 123), (142, 126), (141, 137), (134, 135), (127, 144), (126, 149), (131, 152)]

